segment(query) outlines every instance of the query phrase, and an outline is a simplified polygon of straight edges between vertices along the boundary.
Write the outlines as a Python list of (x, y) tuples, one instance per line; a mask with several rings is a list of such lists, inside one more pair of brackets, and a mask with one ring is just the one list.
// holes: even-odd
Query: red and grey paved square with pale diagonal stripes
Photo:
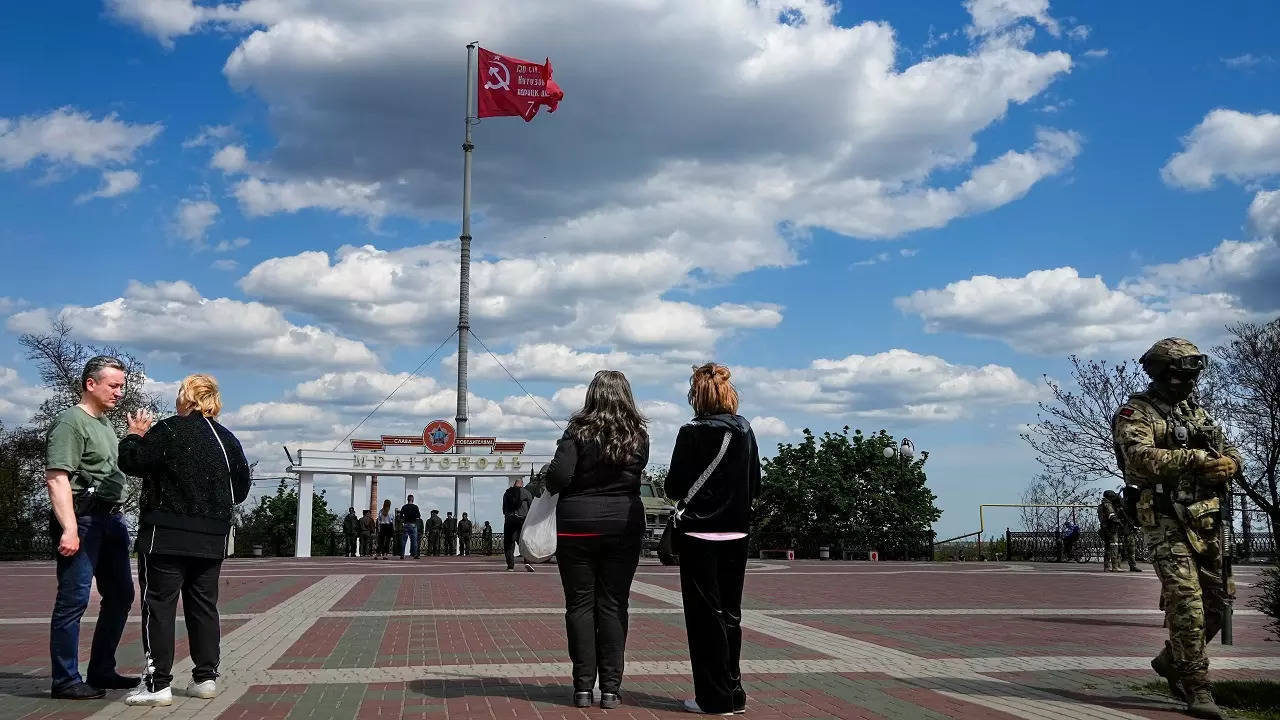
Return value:
[[(230, 560), (220, 589), (221, 693), (182, 697), (191, 670), (178, 628), (174, 705), (131, 708), (123, 693), (47, 698), (52, 564), (0, 575), (0, 717), (520, 720), (687, 717), (691, 696), (680, 578), (645, 561), (631, 594), (623, 707), (576, 710), (559, 577), (507, 573), (497, 557), (374, 561)], [(1244, 603), (1213, 675), (1280, 679), (1280, 642)], [(1149, 571), (1032, 564), (756, 562), (742, 660), (749, 719), (1183, 717), (1140, 692), (1164, 638)], [(95, 596), (96, 605), (96, 596)], [(96, 606), (86, 615), (88, 625)], [(141, 665), (140, 625), (123, 670)], [(90, 633), (83, 633), (82, 657)]]

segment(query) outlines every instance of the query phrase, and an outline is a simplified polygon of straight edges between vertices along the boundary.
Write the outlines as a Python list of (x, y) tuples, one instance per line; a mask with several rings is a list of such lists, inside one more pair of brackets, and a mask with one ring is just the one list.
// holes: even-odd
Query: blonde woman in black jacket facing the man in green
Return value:
[(179, 593), (195, 661), (187, 696), (218, 693), (218, 575), (232, 510), (248, 496), (250, 468), (236, 436), (214, 420), (221, 398), (212, 377), (182, 380), (177, 410), (155, 427), (145, 410), (131, 415), (129, 434), (120, 441), (120, 469), (142, 478), (136, 550), (147, 664), (145, 685), (124, 698), (127, 705), (173, 702)]

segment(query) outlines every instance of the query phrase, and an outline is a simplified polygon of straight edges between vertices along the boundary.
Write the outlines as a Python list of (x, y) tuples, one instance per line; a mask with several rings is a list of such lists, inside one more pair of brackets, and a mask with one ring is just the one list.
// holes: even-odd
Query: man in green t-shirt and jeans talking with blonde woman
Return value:
[[(124, 364), (90, 359), (81, 374), (81, 401), (68, 407), (49, 432), (45, 482), (54, 509), (58, 541), (58, 598), (49, 626), (51, 696), (93, 700), (109, 689), (138, 685), (115, 671), (115, 650), (133, 606), (129, 530), (120, 514), (124, 473), (116, 464), (119, 438), (106, 413), (124, 395)], [(79, 620), (97, 578), (97, 624), (86, 683), (79, 674)]]

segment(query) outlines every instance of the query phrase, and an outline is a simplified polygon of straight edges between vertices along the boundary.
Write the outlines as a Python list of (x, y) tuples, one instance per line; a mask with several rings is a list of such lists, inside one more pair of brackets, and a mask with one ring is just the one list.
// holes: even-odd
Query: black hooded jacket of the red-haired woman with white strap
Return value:
[(689, 489), (719, 452), (724, 433), (728, 448), (716, 471), (694, 496), (680, 520), (682, 533), (745, 533), (751, 525), (751, 502), (760, 493), (760, 450), (751, 424), (741, 415), (701, 415), (676, 436), (667, 471), (666, 495), (685, 500)]

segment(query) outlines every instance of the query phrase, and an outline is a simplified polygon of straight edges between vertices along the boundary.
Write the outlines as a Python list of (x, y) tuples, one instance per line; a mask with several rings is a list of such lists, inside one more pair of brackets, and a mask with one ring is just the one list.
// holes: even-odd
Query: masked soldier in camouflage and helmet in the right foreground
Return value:
[(1151, 666), (1196, 717), (1222, 717), (1210, 693), (1204, 646), (1222, 626), (1228, 597), (1219, 542), (1220, 493), (1242, 468), (1239, 451), (1194, 397), (1207, 359), (1165, 338), (1142, 359), (1152, 383), (1112, 420), (1125, 482), (1142, 488), (1138, 523), (1160, 575), (1169, 641)]

